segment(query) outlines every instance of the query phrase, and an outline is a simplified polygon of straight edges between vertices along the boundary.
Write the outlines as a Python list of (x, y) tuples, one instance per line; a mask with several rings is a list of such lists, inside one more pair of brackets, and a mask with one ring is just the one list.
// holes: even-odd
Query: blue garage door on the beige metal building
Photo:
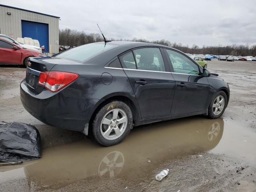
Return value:
[(49, 30), (48, 24), (32, 21), (21, 21), (22, 38), (30, 37), (37, 39), (40, 46), (45, 47), (46, 52), (49, 52)]

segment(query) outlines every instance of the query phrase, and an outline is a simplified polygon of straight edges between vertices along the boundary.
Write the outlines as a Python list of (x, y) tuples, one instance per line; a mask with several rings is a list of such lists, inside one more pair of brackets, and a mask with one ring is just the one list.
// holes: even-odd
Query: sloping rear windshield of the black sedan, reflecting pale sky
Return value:
[(72, 48), (68, 51), (65, 51), (63, 53), (56, 55), (56, 57), (75, 60), (78, 62), (84, 62), (91, 56), (94, 56), (100, 52), (109, 50), (116, 46), (117, 45), (113, 45), (113, 44), (105, 45), (104, 43), (90, 43), (90, 44), (85, 44), (79, 47)]

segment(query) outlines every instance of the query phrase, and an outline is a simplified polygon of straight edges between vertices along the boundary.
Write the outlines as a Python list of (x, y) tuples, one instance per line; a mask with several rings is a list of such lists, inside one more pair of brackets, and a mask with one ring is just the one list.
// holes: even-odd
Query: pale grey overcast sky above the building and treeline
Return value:
[(60, 29), (192, 46), (256, 44), (256, 0), (0, 0), (60, 17)]

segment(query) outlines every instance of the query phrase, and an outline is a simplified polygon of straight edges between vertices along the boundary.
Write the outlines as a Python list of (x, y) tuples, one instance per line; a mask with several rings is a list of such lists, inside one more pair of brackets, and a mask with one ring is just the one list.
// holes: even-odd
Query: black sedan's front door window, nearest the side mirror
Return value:
[(186, 56), (172, 50), (166, 49), (166, 52), (172, 62), (174, 72), (183, 74), (198, 75), (198, 66)]

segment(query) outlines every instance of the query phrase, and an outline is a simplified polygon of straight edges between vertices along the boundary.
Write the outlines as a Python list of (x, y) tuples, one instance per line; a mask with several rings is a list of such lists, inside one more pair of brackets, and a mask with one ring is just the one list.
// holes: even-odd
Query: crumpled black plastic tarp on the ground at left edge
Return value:
[(17, 162), (40, 158), (40, 140), (35, 126), (20, 122), (0, 125), (0, 161)]

